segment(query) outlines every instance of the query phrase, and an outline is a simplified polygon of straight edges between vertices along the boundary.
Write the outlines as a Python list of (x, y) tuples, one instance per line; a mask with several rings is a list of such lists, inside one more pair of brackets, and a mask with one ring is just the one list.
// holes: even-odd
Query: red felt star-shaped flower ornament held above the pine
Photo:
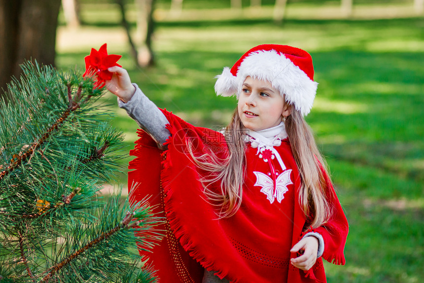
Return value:
[(94, 76), (97, 75), (97, 80), (94, 85), (95, 88), (101, 88), (105, 86), (106, 80), (112, 78), (113, 73), (107, 71), (107, 68), (118, 66), (122, 67), (116, 63), (122, 56), (110, 54), (107, 55), (106, 43), (100, 47), (99, 51), (94, 48), (91, 48), (91, 53), (88, 56), (85, 56), (85, 72), (82, 75), (85, 76)]

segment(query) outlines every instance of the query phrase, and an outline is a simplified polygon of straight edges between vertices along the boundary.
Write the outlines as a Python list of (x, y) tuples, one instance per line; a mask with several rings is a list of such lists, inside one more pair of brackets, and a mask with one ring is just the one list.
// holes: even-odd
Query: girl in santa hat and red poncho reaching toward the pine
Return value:
[(348, 223), (303, 118), (318, 85), (309, 53), (264, 44), (224, 68), (215, 91), (238, 106), (221, 133), (157, 108), (124, 69), (108, 70), (106, 87), (144, 130), (131, 151), (132, 201), (152, 195), (166, 219), (148, 254), (160, 282), (326, 282), (321, 257), (345, 263)]

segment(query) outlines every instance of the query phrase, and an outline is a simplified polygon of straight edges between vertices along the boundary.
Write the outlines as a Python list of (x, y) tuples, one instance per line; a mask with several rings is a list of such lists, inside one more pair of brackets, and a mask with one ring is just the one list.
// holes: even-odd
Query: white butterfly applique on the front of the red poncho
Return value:
[(256, 175), (255, 186), (261, 186), (261, 192), (264, 193), (272, 204), (277, 198), (277, 201), (281, 203), (284, 198), (284, 193), (288, 191), (287, 186), (292, 184), (290, 179), (291, 169), (285, 170), (280, 174), (276, 179), (276, 184), (274, 186), (274, 181), (271, 177), (262, 172), (253, 171), (253, 174)]

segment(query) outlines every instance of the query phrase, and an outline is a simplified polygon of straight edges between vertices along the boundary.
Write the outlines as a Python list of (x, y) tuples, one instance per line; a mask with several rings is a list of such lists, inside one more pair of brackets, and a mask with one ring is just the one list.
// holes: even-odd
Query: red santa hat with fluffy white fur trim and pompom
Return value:
[(233, 96), (241, 91), (247, 76), (271, 82), (285, 94), (287, 103), (307, 115), (314, 103), (318, 83), (314, 81), (311, 55), (305, 50), (279, 44), (262, 44), (247, 51), (234, 64), (217, 75), (217, 95)]

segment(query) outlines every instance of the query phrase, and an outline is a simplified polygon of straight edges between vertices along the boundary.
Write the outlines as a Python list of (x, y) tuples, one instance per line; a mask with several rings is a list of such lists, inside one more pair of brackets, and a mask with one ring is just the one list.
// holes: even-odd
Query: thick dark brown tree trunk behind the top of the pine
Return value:
[[(55, 63), (61, 0), (0, 0), (0, 88), (18, 77), (27, 59)], [(3, 92), (0, 91), (0, 96)]]

